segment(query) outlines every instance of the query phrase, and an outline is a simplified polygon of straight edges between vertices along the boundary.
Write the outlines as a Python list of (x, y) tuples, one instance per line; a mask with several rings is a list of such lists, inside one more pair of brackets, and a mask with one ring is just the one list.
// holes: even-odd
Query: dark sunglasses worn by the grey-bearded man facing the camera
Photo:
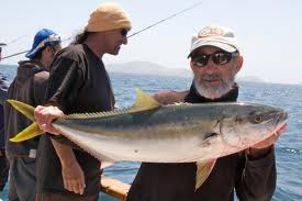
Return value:
[(238, 55), (238, 52), (227, 53), (227, 52), (216, 52), (211, 55), (199, 54), (192, 58), (193, 65), (197, 67), (206, 66), (210, 57), (212, 58), (215, 65), (225, 65), (232, 60), (235, 56)]

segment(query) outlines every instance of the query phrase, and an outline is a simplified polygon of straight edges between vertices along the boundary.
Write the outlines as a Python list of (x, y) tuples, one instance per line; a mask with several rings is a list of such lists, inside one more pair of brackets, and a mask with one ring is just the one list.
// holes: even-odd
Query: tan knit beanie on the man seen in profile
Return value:
[(102, 3), (92, 11), (85, 26), (88, 32), (104, 32), (118, 29), (131, 30), (131, 21), (126, 11), (121, 5), (112, 2)]

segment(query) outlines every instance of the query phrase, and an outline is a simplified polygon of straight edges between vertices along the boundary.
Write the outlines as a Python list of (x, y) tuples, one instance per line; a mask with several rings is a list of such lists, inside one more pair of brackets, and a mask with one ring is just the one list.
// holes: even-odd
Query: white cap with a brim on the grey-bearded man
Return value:
[(231, 27), (209, 25), (193, 35), (188, 58), (194, 49), (208, 45), (219, 47), (228, 53), (239, 52), (237, 40)]

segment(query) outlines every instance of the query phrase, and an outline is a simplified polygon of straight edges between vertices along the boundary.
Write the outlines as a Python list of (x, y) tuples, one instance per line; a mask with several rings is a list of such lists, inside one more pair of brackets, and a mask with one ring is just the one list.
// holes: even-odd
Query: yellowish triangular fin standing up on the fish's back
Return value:
[(130, 107), (126, 112), (139, 112), (145, 110), (153, 110), (159, 108), (160, 104), (150, 96), (145, 93), (142, 89), (136, 88), (136, 101)]

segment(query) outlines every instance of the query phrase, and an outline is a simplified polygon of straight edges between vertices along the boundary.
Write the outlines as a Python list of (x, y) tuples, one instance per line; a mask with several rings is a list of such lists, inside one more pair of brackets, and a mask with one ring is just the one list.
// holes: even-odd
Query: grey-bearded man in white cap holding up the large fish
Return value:
[[(232, 29), (209, 25), (192, 37), (190, 66), (192, 85), (182, 92), (161, 91), (154, 98), (163, 104), (176, 102), (235, 102), (234, 81), (244, 58)], [(216, 160), (205, 182), (195, 191), (195, 163), (143, 163), (130, 189), (127, 201), (269, 201), (276, 188), (273, 143), (284, 127), (266, 141)]]

